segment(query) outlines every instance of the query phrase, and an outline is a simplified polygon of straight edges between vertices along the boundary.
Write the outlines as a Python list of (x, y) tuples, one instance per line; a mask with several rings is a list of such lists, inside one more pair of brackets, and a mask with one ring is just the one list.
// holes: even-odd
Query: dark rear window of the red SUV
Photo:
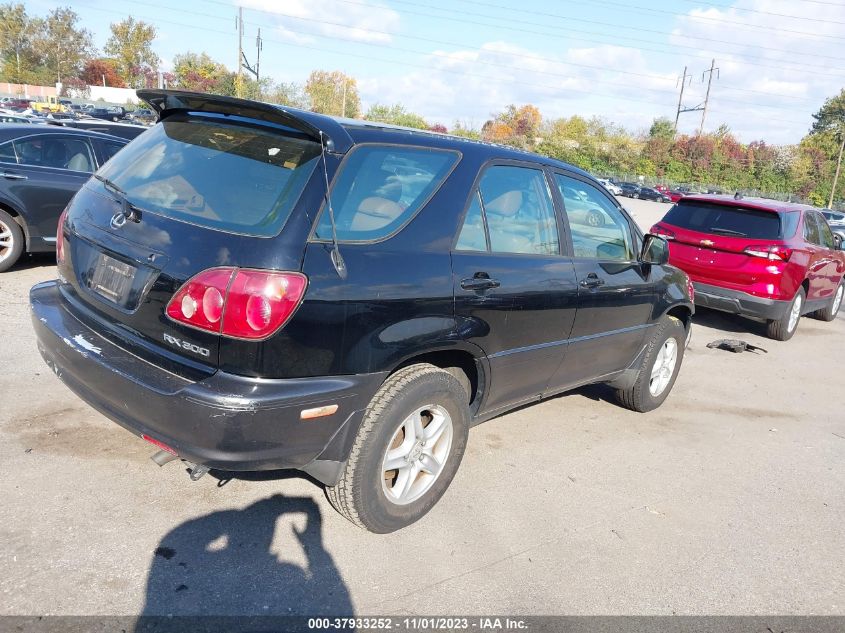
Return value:
[(782, 237), (779, 214), (718, 204), (676, 204), (664, 222), (700, 233), (768, 240)]

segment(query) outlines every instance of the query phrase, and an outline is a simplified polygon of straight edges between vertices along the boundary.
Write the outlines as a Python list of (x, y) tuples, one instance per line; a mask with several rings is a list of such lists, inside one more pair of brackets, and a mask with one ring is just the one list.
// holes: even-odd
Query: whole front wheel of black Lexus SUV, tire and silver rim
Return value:
[[(619, 404), (640, 413), (652, 411), (663, 404), (669, 392), (672, 391), (678, 372), (681, 370), (686, 338), (686, 329), (679, 319), (671, 316), (663, 317), (646, 347), (633, 386), (616, 390), (616, 399)], [(671, 363), (666, 354), (673, 355), (674, 360)], [(658, 370), (658, 365), (661, 365), (662, 371), (653, 377)]]

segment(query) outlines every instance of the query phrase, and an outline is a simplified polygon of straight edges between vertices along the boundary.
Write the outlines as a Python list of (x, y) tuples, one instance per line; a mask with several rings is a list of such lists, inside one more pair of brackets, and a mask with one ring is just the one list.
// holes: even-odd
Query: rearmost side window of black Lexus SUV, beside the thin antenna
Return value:
[[(458, 162), (457, 152), (422, 147), (363, 145), (346, 159), (331, 190), (337, 238), (385, 238), (419, 211)], [(323, 209), (316, 236), (332, 237)]]

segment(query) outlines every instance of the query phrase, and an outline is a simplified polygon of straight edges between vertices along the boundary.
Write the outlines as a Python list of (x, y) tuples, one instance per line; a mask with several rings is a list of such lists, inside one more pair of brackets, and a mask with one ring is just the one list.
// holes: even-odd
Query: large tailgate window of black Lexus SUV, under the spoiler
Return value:
[(269, 237), (281, 230), (319, 160), (318, 143), (282, 129), (174, 116), (100, 173), (143, 210)]

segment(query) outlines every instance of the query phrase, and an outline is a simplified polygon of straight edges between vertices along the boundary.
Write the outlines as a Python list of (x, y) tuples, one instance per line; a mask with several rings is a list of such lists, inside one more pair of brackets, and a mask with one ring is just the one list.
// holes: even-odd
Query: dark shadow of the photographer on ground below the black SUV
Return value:
[[(291, 525), (291, 534), (277, 535), (285, 515), (294, 523), (304, 519), (304, 527)], [(304, 557), (306, 564), (281, 557)], [(346, 585), (323, 546), (317, 504), (308, 497), (273, 495), (169, 532), (155, 550), (136, 631), (156, 616), (353, 614)]]

